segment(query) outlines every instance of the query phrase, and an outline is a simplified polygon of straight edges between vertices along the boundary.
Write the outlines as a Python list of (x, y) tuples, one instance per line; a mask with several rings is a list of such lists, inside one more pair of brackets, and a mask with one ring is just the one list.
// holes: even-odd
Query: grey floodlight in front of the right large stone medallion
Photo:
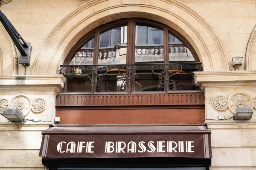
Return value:
[(236, 108), (236, 114), (234, 114), (234, 120), (250, 120), (253, 115), (253, 109), (250, 106), (238, 106)]

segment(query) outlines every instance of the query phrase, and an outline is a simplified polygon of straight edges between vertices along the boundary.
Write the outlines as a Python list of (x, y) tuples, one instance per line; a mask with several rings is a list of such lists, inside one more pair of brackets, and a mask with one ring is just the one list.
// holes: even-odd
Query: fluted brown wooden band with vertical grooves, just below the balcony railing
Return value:
[(59, 106), (204, 105), (204, 94), (59, 95)]

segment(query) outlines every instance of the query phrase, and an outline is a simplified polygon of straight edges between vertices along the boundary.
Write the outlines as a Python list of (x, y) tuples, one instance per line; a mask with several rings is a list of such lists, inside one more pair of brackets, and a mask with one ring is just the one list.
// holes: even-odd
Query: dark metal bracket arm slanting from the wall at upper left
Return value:
[(27, 43), (21, 37), (21, 35), (18, 33), (18, 31), (15, 29), (15, 27), (12, 25), (12, 23), (8, 20), (8, 18), (3, 14), (1, 10), (0, 22), (3, 24), (3, 27), (6, 29), (7, 33), (12, 38), (12, 41), (14, 42), (15, 46), (20, 51), (19, 64), (22, 64), (23, 66), (30, 65), (30, 57), (32, 52), (31, 43)]

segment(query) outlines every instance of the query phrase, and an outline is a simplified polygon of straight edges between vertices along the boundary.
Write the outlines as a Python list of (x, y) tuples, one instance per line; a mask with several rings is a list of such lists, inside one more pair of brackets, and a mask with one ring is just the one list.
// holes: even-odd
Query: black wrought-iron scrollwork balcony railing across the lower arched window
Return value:
[(132, 65), (61, 65), (63, 92), (84, 94), (169, 94), (200, 91), (194, 71), (201, 63)]

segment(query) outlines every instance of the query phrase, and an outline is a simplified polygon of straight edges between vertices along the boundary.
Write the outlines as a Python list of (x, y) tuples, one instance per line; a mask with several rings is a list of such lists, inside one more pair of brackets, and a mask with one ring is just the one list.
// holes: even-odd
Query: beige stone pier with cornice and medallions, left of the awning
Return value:
[[(25, 105), (21, 111), (27, 119), (25, 123), (12, 123), (0, 116), (0, 170), (46, 169), (39, 157), (41, 131), (52, 125), (55, 98), (64, 81), (62, 75), (0, 76), (0, 114), (3, 108), (11, 109), (22, 101)], [(41, 111), (36, 109), (36, 99), (43, 101)], [(39, 122), (33, 122), (36, 118)]]

